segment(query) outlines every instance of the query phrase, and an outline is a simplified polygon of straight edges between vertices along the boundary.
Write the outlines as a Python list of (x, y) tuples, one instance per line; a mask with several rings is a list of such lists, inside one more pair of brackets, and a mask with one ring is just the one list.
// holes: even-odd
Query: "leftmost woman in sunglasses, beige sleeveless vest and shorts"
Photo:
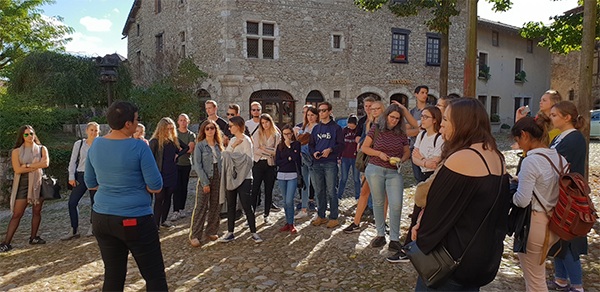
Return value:
[(33, 218), (31, 219), (31, 237), (29, 244), (44, 244), (45, 240), (37, 235), (42, 221), (42, 205), (44, 199), (40, 196), (42, 185), (42, 169), (50, 164), (48, 149), (42, 146), (35, 135), (33, 127), (22, 126), (17, 132), (17, 143), (11, 153), (11, 162), (15, 171), (13, 187), (10, 194), (10, 212), (12, 218), (8, 223), (8, 231), (4, 242), (0, 243), (0, 253), (12, 249), (12, 241), (25, 208), (31, 204)]

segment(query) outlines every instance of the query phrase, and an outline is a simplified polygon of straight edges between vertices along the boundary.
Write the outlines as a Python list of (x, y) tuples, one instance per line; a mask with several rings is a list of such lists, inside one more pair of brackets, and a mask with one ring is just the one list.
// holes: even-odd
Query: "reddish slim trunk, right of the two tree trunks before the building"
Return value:
[(475, 97), (477, 82), (477, 0), (467, 0), (467, 50), (464, 64), (463, 97)]

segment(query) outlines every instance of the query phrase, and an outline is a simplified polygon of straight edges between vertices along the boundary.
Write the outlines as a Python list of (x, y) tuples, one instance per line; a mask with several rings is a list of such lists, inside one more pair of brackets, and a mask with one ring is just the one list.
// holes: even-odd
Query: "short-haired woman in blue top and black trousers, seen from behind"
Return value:
[(129, 251), (146, 287), (168, 290), (150, 195), (161, 191), (162, 178), (148, 145), (131, 138), (137, 111), (131, 103), (113, 103), (107, 114), (112, 132), (96, 138), (85, 162), (85, 184), (97, 189), (92, 226), (104, 262), (103, 291), (123, 291)]

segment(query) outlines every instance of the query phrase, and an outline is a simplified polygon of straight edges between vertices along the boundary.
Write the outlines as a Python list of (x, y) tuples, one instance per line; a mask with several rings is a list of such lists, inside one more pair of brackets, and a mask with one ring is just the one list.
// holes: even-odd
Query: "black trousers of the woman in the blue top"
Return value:
[[(152, 215), (121, 217), (93, 212), (92, 218), (94, 235), (104, 262), (102, 291), (123, 291), (129, 251), (146, 281), (146, 290), (168, 291), (158, 229)], [(123, 226), (127, 225), (124, 220), (135, 225)]]

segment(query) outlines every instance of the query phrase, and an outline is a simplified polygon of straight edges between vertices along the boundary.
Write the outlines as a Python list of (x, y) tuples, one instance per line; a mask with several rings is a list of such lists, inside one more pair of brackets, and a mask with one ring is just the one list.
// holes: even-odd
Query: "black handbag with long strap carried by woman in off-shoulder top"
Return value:
[[(504, 162), (502, 161), (502, 169), (504, 169)], [(502, 175), (500, 179), (502, 179)], [(441, 284), (443, 284), (446, 279), (456, 270), (456, 268), (460, 265), (462, 258), (477, 238), (477, 234), (481, 231), (481, 227), (483, 227), (483, 223), (487, 221), (498, 202), (498, 198), (500, 197), (500, 192), (502, 188), (498, 189), (498, 194), (496, 195), (496, 199), (494, 200), (494, 204), (488, 211), (487, 215), (483, 221), (481, 221), (481, 225), (477, 228), (477, 231), (469, 241), (469, 244), (463, 251), (462, 255), (454, 260), (452, 255), (448, 252), (443, 243), (438, 244), (433, 250), (431, 250), (428, 254), (423, 253), (421, 249), (417, 246), (417, 241), (412, 241), (406, 246), (403, 247), (406, 256), (410, 259), (410, 262), (417, 270), (419, 277), (423, 280), (425, 285), (429, 288), (437, 288)]]

